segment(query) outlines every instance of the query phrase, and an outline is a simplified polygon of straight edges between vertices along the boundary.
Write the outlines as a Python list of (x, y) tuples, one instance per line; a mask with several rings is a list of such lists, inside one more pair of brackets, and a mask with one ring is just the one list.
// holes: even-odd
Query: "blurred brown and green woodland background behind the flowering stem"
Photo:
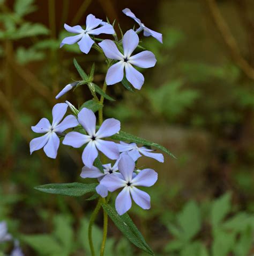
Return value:
[[(80, 151), (60, 146), (52, 160), (42, 150), (29, 154), (31, 131), (66, 99), (78, 106), (91, 98), (83, 86), (56, 101), (68, 83), (79, 80), (76, 58), (95, 82), (103, 83), (103, 59), (92, 49), (59, 42), (63, 24), (85, 25), (93, 13), (123, 31), (135, 22), (130, 8), (163, 44), (141, 45), (158, 60), (142, 70), (145, 84), (132, 93), (108, 87), (105, 117), (167, 147), (177, 159), (142, 158), (138, 165), (159, 173), (147, 191), (149, 211), (129, 214), (156, 255), (253, 255), (254, 2), (252, 0), (1, 0), (0, 1), (0, 221), (20, 240), (25, 255), (90, 255), (87, 224), (95, 201), (43, 194), (35, 186), (84, 182)], [(137, 24), (135, 24), (137, 27)], [(118, 25), (115, 29), (119, 33)], [(100, 38), (109, 38), (108, 36)], [(102, 212), (94, 229), (101, 243)], [(12, 244), (0, 244), (10, 252)], [(109, 222), (106, 255), (146, 255)]]

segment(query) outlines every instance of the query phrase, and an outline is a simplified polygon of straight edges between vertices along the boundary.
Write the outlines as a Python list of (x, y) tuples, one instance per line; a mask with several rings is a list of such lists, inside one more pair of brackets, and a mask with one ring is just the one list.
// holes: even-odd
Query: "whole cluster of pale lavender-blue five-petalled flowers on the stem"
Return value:
[[(138, 33), (144, 31), (145, 37), (151, 35), (161, 43), (162, 34), (148, 29), (130, 9), (124, 9), (123, 13), (133, 18), (139, 24), (139, 28), (136, 31), (133, 29), (126, 31), (121, 40), (117, 39), (113, 25), (103, 22), (101, 19), (90, 14), (86, 18), (85, 29), (79, 25), (71, 27), (64, 24), (66, 31), (75, 33), (76, 35), (64, 38), (60, 47), (65, 44), (71, 45), (77, 42), (80, 51), (86, 54), (91, 48), (95, 48), (106, 57), (108, 63), (105, 79), (107, 86), (122, 82), (126, 77), (126, 80), (134, 88), (141, 89), (145, 79), (136, 67), (154, 67), (156, 58), (150, 51), (134, 53), (136, 49), (140, 48), (138, 47)], [(111, 34), (114, 40), (95, 38), (95, 35), (99, 34)], [(96, 43), (97, 40), (100, 41), (98, 44)], [(56, 98), (58, 99), (80, 84), (87, 84), (91, 87), (91, 84), (93, 84), (93, 75), (89, 76), (86, 80), (85, 78), (83, 77), (83, 81), (75, 81), (67, 84), (57, 94)], [(93, 96), (96, 92), (101, 94), (101, 97), (104, 97), (105, 91), (102, 91), (102, 93), (101, 91), (100, 88), (99, 91), (96, 91), (94, 86), (92, 88)], [(98, 97), (94, 96), (93, 100), (95, 102), (97, 101), (100, 105), (101, 102), (103, 103), (103, 98), (102, 101), (99, 101)], [(68, 106), (74, 115), (68, 115), (64, 118)], [(109, 192), (121, 188), (122, 190), (116, 197), (115, 202), (119, 215), (124, 214), (131, 208), (132, 200), (141, 208), (150, 209), (150, 196), (137, 187), (153, 186), (158, 179), (158, 174), (148, 168), (142, 170), (137, 169), (136, 162), (142, 156), (163, 162), (164, 158), (161, 153), (155, 153), (151, 148), (145, 146), (138, 147), (136, 143), (128, 144), (123, 141), (119, 141), (119, 143), (112, 141), (111, 137), (118, 134), (121, 129), (119, 120), (109, 118), (104, 120), (104, 122), (99, 122), (100, 126), (96, 126), (97, 120), (92, 109), (81, 108), (78, 110), (66, 101), (65, 103), (58, 103), (53, 107), (52, 116), (52, 123), (48, 119), (42, 118), (38, 124), (32, 126), (34, 132), (44, 133), (44, 135), (31, 141), (31, 154), (43, 148), (49, 158), (56, 158), (60, 138), (63, 138), (63, 145), (74, 148), (85, 146), (81, 156), (85, 166), (80, 176), (84, 179), (98, 179), (99, 183), (96, 191), (101, 197), (106, 197)], [(70, 131), (70, 129), (72, 130)], [(99, 168), (98, 161), (101, 153), (108, 159), (115, 160), (114, 165), (112, 166), (111, 163), (107, 163)], [(95, 161), (96, 159), (98, 159), (97, 163)]]

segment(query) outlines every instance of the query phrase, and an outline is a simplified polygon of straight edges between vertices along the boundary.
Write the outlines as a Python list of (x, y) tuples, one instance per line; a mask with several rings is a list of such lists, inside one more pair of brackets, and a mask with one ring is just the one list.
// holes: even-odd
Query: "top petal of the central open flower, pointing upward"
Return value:
[(78, 122), (85, 128), (89, 136), (95, 135), (96, 117), (91, 109), (81, 109), (78, 113)]

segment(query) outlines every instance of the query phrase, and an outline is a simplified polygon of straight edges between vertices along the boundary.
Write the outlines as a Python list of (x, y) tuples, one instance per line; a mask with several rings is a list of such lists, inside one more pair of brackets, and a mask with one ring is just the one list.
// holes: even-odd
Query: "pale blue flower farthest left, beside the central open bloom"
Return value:
[[(58, 103), (53, 107), (53, 122), (49, 123), (47, 118), (42, 118), (38, 124), (32, 126), (31, 129), (36, 133), (46, 133), (41, 137), (32, 139), (30, 142), (31, 154), (43, 147), (44, 152), (49, 158), (56, 158), (60, 140), (57, 134), (62, 134), (66, 129), (78, 125), (76, 117), (73, 115), (66, 116), (68, 105), (66, 103)], [(63, 120), (62, 120), (63, 119)], [(61, 122), (62, 120), (62, 122)]]

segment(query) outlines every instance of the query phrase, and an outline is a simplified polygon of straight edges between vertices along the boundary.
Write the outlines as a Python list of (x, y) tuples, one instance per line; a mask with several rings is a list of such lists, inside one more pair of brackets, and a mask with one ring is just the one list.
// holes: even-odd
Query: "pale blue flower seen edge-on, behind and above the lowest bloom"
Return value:
[(142, 155), (145, 155), (146, 157), (154, 158), (159, 162), (164, 162), (163, 154), (153, 153), (153, 150), (150, 150), (144, 146), (138, 147), (136, 143), (128, 144), (120, 141), (120, 144), (118, 144), (118, 149), (120, 152), (127, 152), (134, 161), (137, 161)]

